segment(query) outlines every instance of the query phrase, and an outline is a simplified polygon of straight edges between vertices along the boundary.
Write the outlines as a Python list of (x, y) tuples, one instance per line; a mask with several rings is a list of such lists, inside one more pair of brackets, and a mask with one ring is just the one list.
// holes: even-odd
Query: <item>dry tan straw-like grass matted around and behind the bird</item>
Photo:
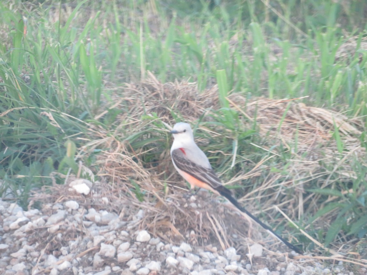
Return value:
[[(132, 211), (138, 208), (146, 209), (148, 215), (141, 220), (138, 227), (145, 228), (154, 236), (175, 244), (186, 241), (192, 245), (205, 247), (211, 245), (222, 247), (222, 249), (235, 246), (243, 255), (248, 253), (248, 244), (253, 242), (259, 242), (273, 251), (286, 250), (286, 247), (265, 235), (265, 232), (260, 234), (257, 231), (257, 225), (248, 225), (248, 221), (245, 218), (239, 218), (239, 213), (230, 204), (218, 202), (218, 198), (214, 195), (206, 198), (197, 197), (195, 203), (199, 207), (192, 207), (190, 205), (192, 201), (183, 198), (186, 191), (182, 190), (182, 180), (171, 165), (170, 137), (167, 140), (167, 148), (161, 148), (164, 140), (167, 139), (167, 129), (151, 126), (152, 121), (162, 121), (163, 124), (173, 125), (174, 117), (171, 110), (182, 114), (181, 120), (195, 122), (204, 111), (218, 109), (216, 86), (200, 94), (193, 83), (162, 84), (150, 75), (150, 80), (139, 84), (127, 84), (126, 88), (122, 89), (123, 92), (116, 92), (115, 106), (119, 106), (124, 112), (113, 124), (115, 132), (108, 133), (91, 125), (93, 141), (80, 148), (80, 155), (87, 154), (95, 148), (103, 149), (97, 161), (98, 176), (102, 184), (97, 185), (98, 190), (95, 190), (95, 194), (100, 195), (87, 196), (85, 203), (88, 207), (94, 207), (96, 210), (104, 208), (118, 214), (123, 212), (126, 219)], [(228, 99), (232, 107), (242, 115), (244, 123), (248, 123), (248, 126), (251, 127), (256, 119), (259, 135), (272, 142), (268, 143), (269, 146), (253, 144), (254, 146), (269, 151), (273, 145), (282, 145), (283, 148), (286, 148), (284, 150), (291, 152), (292, 156), (290, 160), (292, 165), (287, 168), (288, 176), (269, 173), (262, 186), (240, 198), (245, 206), (256, 205), (252, 202), (259, 199), (264, 201), (262, 211), (269, 213), (269, 220), (275, 217), (276, 210), (273, 205), (282, 209), (286, 208), (284, 211), (287, 215), (292, 220), (297, 220), (303, 214), (305, 205), (311, 208), (309, 211), (312, 213), (318, 209), (316, 203), (318, 195), (313, 194), (304, 198), (304, 186), (309, 181), (318, 178), (320, 187), (332, 183), (330, 177), (325, 177), (330, 172), (321, 171), (320, 162), (329, 162), (330, 165), (334, 165), (333, 173), (337, 173), (339, 177), (356, 176), (350, 172), (351, 169), (345, 166), (347, 163), (345, 159), (362, 158), (366, 154), (364, 148), (360, 147), (357, 137), (361, 125), (358, 119), (348, 120), (343, 114), (308, 107), (303, 103), (298, 103), (297, 100), (254, 98), (246, 101), (237, 94), (230, 95)], [(153, 113), (155, 115), (152, 117), (156, 118), (141, 119), (143, 115)], [(104, 115), (103, 112), (101, 112), (102, 115)], [(332, 132), (335, 131), (334, 121), (346, 148), (343, 155), (335, 153), (337, 151), (335, 139), (331, 138)], [(150, 139), (152, 136), (161, 137), (161, 143), (157, 143), (160, 148), (155, 148), (153, 142), (149, 143), (148, 147), (133, 149), (127, 138), (137, 131), (143, 133), (140, 137), (142, 140)], [(211, 131), (207, 133), (213, 136), (219, 135)], [(294, 151), (296, 136), (298, 150)], [(148, 153), (159, 154), (156, 162), (143, 161), (144, 156)], [(281, 152), (273, 149), (270, 158), (277, 154)], [(337, 169), (338, 165), (343, 165), (344, 168)], [(227, 184), (260, 177), (261, 170), (266, 169), (268, 169), (266, 160), (263, 159), (262, 162), (250, 167), (247, 173), (233, 177)], [(137, 197), (136, 186), (132, 184), (133, 182), (138, 184), (140, 192), (144, 194), (143, 201), (139, 201), (141, 198)], [(291, 199), (285, 192), (290, 187), (294, 188), (294, 197)], [(63, 187), (54, 186), (53, 188)], [(269, 190), (271, 191), (268, 192)], [(52, 192), (53, 195), (43, 193), (43, 196), (50, 196), (50, 198), (43, 197), (42, 201), (72, 199), (69, 195), (52, 197), (55, 193), (62, 194), (60, 190)], [(109, 201), (114, 202), (113, 205), (102, 205), (100, 197), (109, 198)], [(266, 200), (262, 197), (265, 197)], [(280, 197), (284, 199), (280, 200)], [(283, 202), (279, 203), (279, 201)], [(256, 211), (253, 212), (256, 213)], [(333, 219), (332, 216), (331, 219)], [(276, 223), (276, 221), (272, 222)], [(323, 220), (315, 226), (326, 227), (327, 224), (330, 224), (330, 221)], [(336, 243), (333, 244), (333, 247), (339, 253), (347, 253), (352, 246), (352, 244), (345, 243), (343, 245), (341, 250), (337, 249)], [(279, 254), (275, 253), (274, 257), (279, 257)], [(306, 263), (309, 264), (309, 261), (315, 261), (315, 258), (308, 258)]]

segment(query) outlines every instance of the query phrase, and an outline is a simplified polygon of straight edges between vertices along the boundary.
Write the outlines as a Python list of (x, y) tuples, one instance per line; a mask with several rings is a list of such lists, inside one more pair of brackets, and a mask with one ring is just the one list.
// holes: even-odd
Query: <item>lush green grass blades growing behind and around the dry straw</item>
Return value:
[[(288, 0), (269, 1), (266, 7), (262, 1), (239, 0), (1, 2), (1, 191), (10, 188), (26, 207), (30, 190), (51, 184), (50, 172), (75, 173), (76, 155), (99, 131), (130, 135), (121, 139), (133, 150), (155, 148), (142, 159), (147, 166), (156, 161), (170, 143), (163, 133), (150, 134), (149, 125), (164, 128), (159, 115), (142, 115), (144, 129), (121, 130), (116, 118), (127, 113), (132, 103), (126, 99), (114, 105), (117, 95), (124, 96), (123, 83), (145, 79), (148, 71), (162, 83), (195, 81), (201, 92), (218, 84), (220, 107), (207, 110), (210, 123), (203, 117), (199, 121), (221, 133), (206, 149), (216, 152), (211, 160), (219, 172), (226, 172), (224, 178), (246, 170), (244, 163), (272, 155), (272, 150), (278, 155), (264, 164), (271, 169), (262, 171), (252, 187), (246, 181), (237, 187), (251, 191), (269, 175), (286, 175), (293, 158), (290, 151), (272, 148), (264, 153), (250, 146), (266, 141), (258, 135), (256, 120), (250, 129), (245, 126), (247, 119), (230, 107), (227, 97), (233, 93), (248, 100), (309, 96), (302, 99), (309, 105), (346, 111), (350, 118), (365, 117), (367, 3), (342, 3)], [(71, 7), (71, 14), (65, 7)], [(58, 12), (60, 20), (52, 15)], [(25, 35), (22, 15), (27, 19)], [(357, 37), (356, 42), (349, 47), (352, 37)], [(103, 111), (106, 114), (99, 117)], [(171, 115), (176, 121), (185, 118), (175, 109)], [(361, 146), (366, 148), (365, 119), (361, 128)], [(347, 149), (338, 131), (333, 137), (340, 159)], [(292, 146), (297, 153), (297, 139)], [(84, 161), (94, 165), (90, 156)], [(366, 173), (357, 159), (348, 167), (353, 174)], [(334, 167), (323, 169), (331, 172)], [(314, 229), (327, 244), (340, 230), (350, 238), (367, 230), (363, 177), (343, 180), (331, 175), (333, 188), (319, 188), (317, 179), (310, 181), (306, 195), (318, 194), (315, 201), (321, 206), (304, 218), (312, 223), (341, 210), (334, 221), (338, 227)], [(353, 193), (341, 193), (350, 188)], [(138, 186), (135, 191), (141, 194)], [(323, 205), (331, 195), (337, 202)]]

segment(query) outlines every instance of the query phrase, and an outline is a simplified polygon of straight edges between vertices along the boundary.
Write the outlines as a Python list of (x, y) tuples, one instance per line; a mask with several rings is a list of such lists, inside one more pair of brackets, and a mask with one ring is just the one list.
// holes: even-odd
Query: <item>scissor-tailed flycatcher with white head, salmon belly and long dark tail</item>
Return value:
[(232, 193), (222, 185), (221, 180), (212, 169), (207, 156), (196, 145), (192, 129), (188, 123), (179, 122), (171, 131), (174, 142), (171, 147), (171, 157), (177, 172), (189, 182), (191, 189), (195, 187), (205, 188), (228, 199), (241, 212), (246, 213), (263, 228), (270, 231), (288, 247), (298, 254), (303, 254), (300, 249), (276, 234), (268, 225), (262, 223), (242, 206)]

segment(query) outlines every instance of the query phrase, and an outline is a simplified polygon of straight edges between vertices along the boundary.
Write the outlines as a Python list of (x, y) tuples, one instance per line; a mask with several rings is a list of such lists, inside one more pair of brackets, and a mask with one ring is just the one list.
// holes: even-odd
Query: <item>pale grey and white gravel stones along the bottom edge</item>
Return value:
[(141, 228), (148, 211), (124, 216), (107, 209), (88, 209), (80, 199), (23, 211), (0, 200), (0, 274), (353, 274), (343, 264), (271, 258), (257, 243), (247, 256), (234, 247), (194, 245), (190, 231), (172, 244)]

